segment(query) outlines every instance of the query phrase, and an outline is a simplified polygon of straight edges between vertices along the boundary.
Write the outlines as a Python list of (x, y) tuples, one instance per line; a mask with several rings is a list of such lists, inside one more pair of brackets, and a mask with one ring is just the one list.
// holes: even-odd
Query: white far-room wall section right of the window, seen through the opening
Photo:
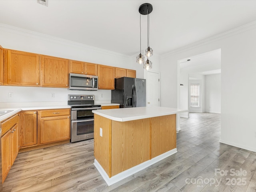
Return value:
[(205, 76), (205, 112), (220, 113), (220, 76), (213, 74)]

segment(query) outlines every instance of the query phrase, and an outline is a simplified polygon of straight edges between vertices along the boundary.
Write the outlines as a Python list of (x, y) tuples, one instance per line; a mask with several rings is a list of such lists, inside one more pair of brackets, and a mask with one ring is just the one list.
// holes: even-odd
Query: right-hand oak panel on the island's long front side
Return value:
[(152, 158), (176, 148), (176, 114), (150, 118)]

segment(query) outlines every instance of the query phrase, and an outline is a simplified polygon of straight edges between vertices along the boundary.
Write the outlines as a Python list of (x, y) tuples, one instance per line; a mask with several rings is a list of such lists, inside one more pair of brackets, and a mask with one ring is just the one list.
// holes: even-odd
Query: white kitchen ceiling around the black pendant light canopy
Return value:
[[(150, 47), (155, 54), (256, 20), (256, 0), (0, 0), (0, 23), (128, 56), (139, 52), (138, 8), (150, 3)], [(147, 16), (142, 15), (142, 49)]]

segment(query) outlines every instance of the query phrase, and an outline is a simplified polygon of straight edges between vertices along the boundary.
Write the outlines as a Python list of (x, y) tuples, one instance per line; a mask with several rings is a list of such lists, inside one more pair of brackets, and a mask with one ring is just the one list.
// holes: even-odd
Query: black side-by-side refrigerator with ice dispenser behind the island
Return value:
[(115, 79), (115, 89), (111, 90), (111, 102), (120, 104), (120, 108), (146, 107), (146, 79)]

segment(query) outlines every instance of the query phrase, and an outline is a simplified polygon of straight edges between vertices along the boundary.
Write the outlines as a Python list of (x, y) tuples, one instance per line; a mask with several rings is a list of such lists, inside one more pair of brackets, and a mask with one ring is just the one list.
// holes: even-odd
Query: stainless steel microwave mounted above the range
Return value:
[(98, 90), (98, 76), (69, 74), (69, 90)]

